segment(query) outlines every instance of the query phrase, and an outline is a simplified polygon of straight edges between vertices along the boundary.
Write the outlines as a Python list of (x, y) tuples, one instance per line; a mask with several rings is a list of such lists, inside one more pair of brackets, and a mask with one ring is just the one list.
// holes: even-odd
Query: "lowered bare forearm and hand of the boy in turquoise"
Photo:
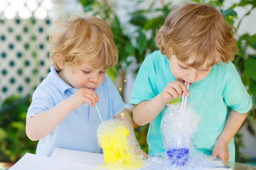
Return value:
[(240, 114), (233, 110), (229, 111), (224, 129), (213, 147), (212, 156), (219, 157), (222, 161), (227, 161), (230, 158), (227, 145), (243, 124), (246, 116), (247, 113)]

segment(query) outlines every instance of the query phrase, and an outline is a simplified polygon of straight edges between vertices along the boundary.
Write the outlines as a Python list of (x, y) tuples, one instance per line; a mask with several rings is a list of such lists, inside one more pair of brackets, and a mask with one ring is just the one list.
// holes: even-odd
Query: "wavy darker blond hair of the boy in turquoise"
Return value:
[(173, 8), (163, 26), (157, 30), (155, 42), (167, 58), (175, 55), (181, 62), (193, 57), (192, 68), (204, 63), (228, 63), (238, 52), (236, 39), (221, 13), (213, 6), (199, 3), (181, 3)]

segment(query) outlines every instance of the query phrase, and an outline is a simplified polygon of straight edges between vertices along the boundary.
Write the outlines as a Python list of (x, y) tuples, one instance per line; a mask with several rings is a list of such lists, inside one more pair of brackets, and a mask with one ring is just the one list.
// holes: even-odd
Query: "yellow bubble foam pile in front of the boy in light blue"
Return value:
[(131, 130), (119, 119), (108, 119), (97, 129), (99, 147), (103, 149), (107, 169), (137, 169), (144, 165), (145, 156)]

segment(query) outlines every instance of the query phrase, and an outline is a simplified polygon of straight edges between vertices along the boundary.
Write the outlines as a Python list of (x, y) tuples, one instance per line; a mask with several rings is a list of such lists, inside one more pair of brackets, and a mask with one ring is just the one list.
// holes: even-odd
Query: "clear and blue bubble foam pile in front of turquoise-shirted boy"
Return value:
[(200, 117), (195, 114), (192, 103), (186, 104), (181, 116), (180, 105), (172, 104), (161, 120), (160, 131), (164, 136), (165, 153), (150, 156), (142, 170), (204, 170), (226, 167), (218, 158), (198, 151), (193, 142)]

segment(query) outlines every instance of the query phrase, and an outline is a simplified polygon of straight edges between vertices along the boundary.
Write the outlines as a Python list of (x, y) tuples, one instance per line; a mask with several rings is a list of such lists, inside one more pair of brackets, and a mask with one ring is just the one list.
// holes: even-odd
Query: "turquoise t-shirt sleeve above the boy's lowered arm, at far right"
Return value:
[(247, 93), (233, 63), (228, 64), (226, 76), (227, 81), (224, 90), (225, 103), (229, 108), (238, 113), (247, 113), (252, 108), (252, 99)]

